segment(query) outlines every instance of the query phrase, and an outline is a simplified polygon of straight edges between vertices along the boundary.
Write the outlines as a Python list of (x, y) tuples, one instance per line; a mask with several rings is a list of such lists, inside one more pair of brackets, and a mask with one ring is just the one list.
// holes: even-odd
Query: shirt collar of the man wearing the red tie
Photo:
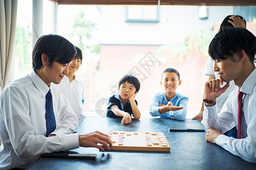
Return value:
[(240, 91), (244, 92), (245, 94), (252, 94), (253, 88), (256, 84), (256, 68), (251, 72), (251, 74), (245, 79), (243, 82)]

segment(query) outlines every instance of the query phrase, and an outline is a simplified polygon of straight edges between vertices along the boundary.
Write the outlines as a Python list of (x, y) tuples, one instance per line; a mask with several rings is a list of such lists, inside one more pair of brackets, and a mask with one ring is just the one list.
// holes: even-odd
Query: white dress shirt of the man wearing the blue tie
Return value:
[(0, 99), (0, 169), (26, 168), (40, 154), (67, 151), (79, 147), (79, 135), (73, 134), (78, 118), (68, 100), (55, 84), (52, 91), (55, 113), (55, 137), (46, 137), (46, 94), (49, 87), (33, 70), (9, 83)]

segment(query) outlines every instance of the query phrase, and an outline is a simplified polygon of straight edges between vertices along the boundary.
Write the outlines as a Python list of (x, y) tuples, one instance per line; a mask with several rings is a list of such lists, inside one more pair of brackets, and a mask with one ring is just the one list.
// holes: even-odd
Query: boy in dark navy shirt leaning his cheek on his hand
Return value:
[(118, 84), (119, 94), (109, 98), (107, 117), (123, 117), (121, 125), (131, 122), (131, 115), (139, 120), (141, 112), (137, 107), (138, 103), (134, 100), (141, 84), (133, 75), (125, 75)]

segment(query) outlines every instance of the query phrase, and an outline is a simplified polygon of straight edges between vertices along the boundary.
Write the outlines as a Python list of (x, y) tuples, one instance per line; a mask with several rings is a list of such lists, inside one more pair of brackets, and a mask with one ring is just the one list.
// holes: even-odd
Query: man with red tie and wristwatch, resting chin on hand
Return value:
[[(247, 29), (229, 27), (217, 33), (210, 42), (209, 55), (220, 78), (205, 83), (203, 113), (203, 123), (208, 129), (206, 140), (253, 163), (256, 163), (255, 52), (256, 37)], [(232, 80), (236, 88), (217, 113), (216, 98), (225, 92)], [(221, 88), (223, 82), (226, 85)], [(238, 124), (238, 91), (243, 92), (241, 125)], [(222, 134), (232, 128), (233, 122), (241, 129), (241, 139)]]

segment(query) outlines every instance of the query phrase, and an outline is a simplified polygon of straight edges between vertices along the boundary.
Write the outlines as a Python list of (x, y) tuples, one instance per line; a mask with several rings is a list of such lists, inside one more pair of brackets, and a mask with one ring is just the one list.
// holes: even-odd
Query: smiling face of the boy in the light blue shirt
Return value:
[(163, 74), (162, 81), (160, 82), (167, 93), (174, 93), (178, 86), (180, 86), (181, 80), (179, 76), (174, 72), (166, 72)]

